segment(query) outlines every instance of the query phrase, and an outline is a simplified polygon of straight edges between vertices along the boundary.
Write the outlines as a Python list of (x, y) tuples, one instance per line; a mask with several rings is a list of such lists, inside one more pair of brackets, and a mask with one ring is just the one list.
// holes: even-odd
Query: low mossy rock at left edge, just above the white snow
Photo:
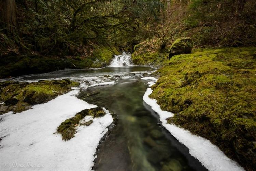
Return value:
[(41, 80), (34, 83), (21, 82), (0, 82), (0, 101), (4, 102), (0, 106), (0, 114), (8, 111), (14, 113), (30, 109), (34, 104), (45, 103), (54, 99), (58, 95), (70, 91), (71, 87), (78, 86), (79, 83), (63, 80)]

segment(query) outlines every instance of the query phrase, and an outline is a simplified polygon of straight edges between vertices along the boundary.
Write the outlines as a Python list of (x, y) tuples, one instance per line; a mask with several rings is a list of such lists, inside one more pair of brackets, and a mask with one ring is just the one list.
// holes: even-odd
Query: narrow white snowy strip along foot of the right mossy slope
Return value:
[[(154, 80), (150, 77), (145, 80)], [(156, 79), (155, 79), (156, 81)], [(149, 82), (150, 86), (154, 83)], [(229, 159), (217, 146), (213, 145), (209, 140), (191, 134), (189, 131), (177, 127), (173, 124), (168, 124), (166, 119), (172, 117), (173, 113), (162, 111), (157, 104), (157, 100), (149, 98), (152, 89), (148, 88), (143, 96), (143, 100), (158, 113), (162, 125), (174, 136), (189, 148), (189, 153), (197, 158), (202, 165), (210, 171), (242, 171), (244, 170), (237, 162)]]

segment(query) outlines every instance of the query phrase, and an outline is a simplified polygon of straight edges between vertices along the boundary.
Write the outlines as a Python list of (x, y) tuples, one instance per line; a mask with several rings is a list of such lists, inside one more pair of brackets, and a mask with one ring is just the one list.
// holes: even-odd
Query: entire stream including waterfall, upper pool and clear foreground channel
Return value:
[(132, 66), (130, 55), (123, 53), (115, 56), (106, 68), (56, 71), (12, 80), (79, 81), (78, 98), (116, 114), (115, 125), (96, 152), (93, 167), (96, 171), (207, 170), (189, 154), (187, 147), (160, 126), (158, 115), (143, 102), (148, 85), (141, 77), (152, 71), (150, 67)]

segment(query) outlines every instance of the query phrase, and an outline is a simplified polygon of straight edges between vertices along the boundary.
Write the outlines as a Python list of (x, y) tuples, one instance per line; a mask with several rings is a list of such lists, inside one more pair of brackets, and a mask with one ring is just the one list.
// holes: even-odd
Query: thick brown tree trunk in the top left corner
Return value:
[(15, 0), (0, 0), (0, 27), (14, 33), (18, 25)]

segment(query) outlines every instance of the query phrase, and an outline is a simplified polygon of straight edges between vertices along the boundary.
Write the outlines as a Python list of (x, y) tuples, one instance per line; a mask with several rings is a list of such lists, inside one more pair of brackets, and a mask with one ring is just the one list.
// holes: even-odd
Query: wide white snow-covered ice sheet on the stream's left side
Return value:
[(91, 170), (100, 139), (113, 119), (94, 118), (90, 126), (80, 126), (74, 138), (63, 141), (54, 134), (64, 120), (83, 109), (96, 107), (75, 97), (78, 90), (18, 114), (0, 116), (0, 170)]

